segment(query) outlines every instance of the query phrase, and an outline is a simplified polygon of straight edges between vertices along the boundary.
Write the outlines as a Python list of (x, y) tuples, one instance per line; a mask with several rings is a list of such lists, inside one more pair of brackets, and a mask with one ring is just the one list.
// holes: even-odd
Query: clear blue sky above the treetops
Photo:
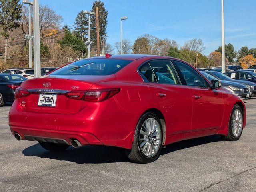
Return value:
[[(40, 4), (63, 16), (72, 25), (81, 10), (90, 10), (92, 0), (39, 0)], [(201, 38), (208, 55), (221, 45), (221, 0), (103, 0), (108, 10), (107, 42), (120, 40), (120, 17), (123, 38), (134, 42), (142, 34), (176, 40)], [(241, 46), (256, 48), (256, 1), (224, 0), (225, 42), (236, 50)]]

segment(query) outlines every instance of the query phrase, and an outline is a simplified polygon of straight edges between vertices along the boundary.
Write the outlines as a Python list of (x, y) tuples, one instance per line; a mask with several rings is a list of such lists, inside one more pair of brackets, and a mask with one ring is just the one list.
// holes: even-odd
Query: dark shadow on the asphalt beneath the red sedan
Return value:
[[(169, 144), (162, 149), (160, 155), (164, 155), (177, 150), (190, 148), (198, 145), (203, 145), (211, 142), (222, 141), (220, 136), (206, 136), (202, 138), (190, 139), (185, 141)], [(128, 158), (122, 148), (110, 146), (84, 146), (81, 148), (69, 147), (64, 152), (50, 152), (43, 149), (40, 144), (35, 144), (23, 150), (25, 156), (37, 156), (41, 158), (56, 159), (61, 161), (70, 161), (77, 164), (84, 163), (114, 163), (114, 162), (128, 162)]]

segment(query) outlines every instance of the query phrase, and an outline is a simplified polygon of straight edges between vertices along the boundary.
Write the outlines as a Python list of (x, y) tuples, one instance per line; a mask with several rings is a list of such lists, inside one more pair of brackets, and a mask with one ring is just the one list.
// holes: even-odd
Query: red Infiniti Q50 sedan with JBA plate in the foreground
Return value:
[(51, 151), (117, 146), (132, 162), (156, 160), (162, 146), (220, 134), (238, 140), (244, 102), (171, 57), (117, 55), (70, 63), (16, 89), (9, 125), (17, 140)]

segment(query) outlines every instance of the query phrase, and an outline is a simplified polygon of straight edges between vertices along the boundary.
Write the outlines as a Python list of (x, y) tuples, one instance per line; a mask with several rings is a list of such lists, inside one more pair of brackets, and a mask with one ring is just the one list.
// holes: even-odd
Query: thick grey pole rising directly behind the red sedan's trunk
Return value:
[(34, 32), (34, 78), (41, 76), (40, 32), (39, 32), (39, 0), (33, 2)]

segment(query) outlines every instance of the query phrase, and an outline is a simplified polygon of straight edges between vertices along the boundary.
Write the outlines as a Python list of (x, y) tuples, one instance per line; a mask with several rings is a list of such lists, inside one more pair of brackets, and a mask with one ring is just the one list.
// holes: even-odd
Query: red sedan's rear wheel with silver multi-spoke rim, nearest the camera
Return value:
[(140, 118), (131, 150), (126, 150), (126, 156), (136, 163), (155, 161), (162, 148), (163, 131), (156, 114), (147, 112)]

